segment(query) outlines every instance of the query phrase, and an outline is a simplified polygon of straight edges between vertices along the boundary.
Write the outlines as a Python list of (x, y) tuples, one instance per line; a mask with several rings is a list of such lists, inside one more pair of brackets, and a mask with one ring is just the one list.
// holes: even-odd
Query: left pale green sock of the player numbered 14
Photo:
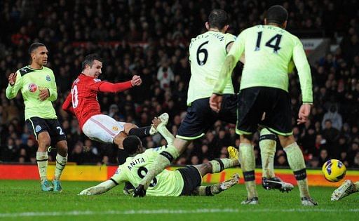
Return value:
[(246, 143), (239, 145), (239, 158), (248, 199), (258, 197), (257, 187), (255, 185), (255, 152), (253, 146)]

